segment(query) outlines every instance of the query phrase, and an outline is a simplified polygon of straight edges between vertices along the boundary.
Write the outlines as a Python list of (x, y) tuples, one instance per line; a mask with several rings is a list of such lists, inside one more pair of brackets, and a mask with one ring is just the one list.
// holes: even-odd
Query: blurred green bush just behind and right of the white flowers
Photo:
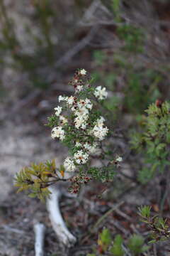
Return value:
[[(130, 114), (140, 114), (161, 96), (159, 84), (163, 77), (155, 70), (136, 69), (128, 63), (124, 53), (113, 54), (113, 60), (102, 50), (96, 50), (94, 53), (96, 70), (93, 77), (97, 84), (104, 85), (111, 91), (111, 97), (105, 105), (108, 110), (115, 110), (114, 114), (120, 106)], [(110, 61), (115, 68), (105, 69)], [(124, 85), (119, 85), (122, 79)]]

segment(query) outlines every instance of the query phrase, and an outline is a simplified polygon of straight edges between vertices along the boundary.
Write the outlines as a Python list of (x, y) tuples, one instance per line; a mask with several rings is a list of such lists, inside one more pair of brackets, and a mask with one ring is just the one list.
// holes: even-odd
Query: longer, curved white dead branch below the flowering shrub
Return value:
[(50, 187), (49, 189), (51, 194), (50, 198), (47, 199), (47, 210), (49, 212), (52, 228), (55, 230), (58, 240), (60, 240), (63, 245), (71, 247), (77, 239), (67, 229), (62, 214), (60, 213), (59, 198), (61, 191), (59, 191), (59, 188), (54, 187)]

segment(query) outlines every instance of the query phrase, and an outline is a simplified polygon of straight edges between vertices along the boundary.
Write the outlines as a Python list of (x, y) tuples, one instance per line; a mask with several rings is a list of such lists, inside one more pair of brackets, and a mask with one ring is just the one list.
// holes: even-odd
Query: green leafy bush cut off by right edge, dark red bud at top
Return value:
[(144, 156), (139, 181), (146, 183), (155, 174), (162, 174), (169, 166), (170, 104), (160, 102), (149, 105), (139, 132), (132, 134), (132, 148)]

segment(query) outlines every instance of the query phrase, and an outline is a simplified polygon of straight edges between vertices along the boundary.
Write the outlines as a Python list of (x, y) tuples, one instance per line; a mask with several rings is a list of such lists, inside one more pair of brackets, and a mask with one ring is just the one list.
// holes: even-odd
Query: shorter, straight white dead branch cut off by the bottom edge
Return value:
[(35, 223), (34, 232), (35, 232), (35, 256), (43, 256), (45, 225), (43, 225), (42, 223)]

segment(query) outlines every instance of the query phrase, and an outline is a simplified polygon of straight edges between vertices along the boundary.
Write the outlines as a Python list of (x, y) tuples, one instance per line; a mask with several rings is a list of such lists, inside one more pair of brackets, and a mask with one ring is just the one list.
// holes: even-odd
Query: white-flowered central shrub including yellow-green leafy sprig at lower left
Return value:
[[(47, 126), (52, 129), (52, 139), (59, 139), (67, 146), (69, 156), (58, 167), (55, 161), (47, 161), (21, 170), (16, 176), (18, 191), (29, 190), (30, 196), (43, 199), (50, 193), (48, 186), (67, 180), (64, 178), (66, 171), (72, 173), (69, 178), (72, 183), (69, 187), (71, 193), (78, 193), (82, 184), (92, 178), (102, 182), (113, 179), (115, 168), (122, 158), (115, 156), (113, 159), (113, 154), (105, 151), (103, 142), (106, 137), (112, 136), (103, 117), (103, 100), (108, 92), (105, 87), (92, 87), (91, 82), (86, 70), (77, 70), (69, 82), (74, 87), (74, 95), (60, 95), (60, 105), (55, 107), (55, 114), (48, 118)], [(91, 166), (94, 157), (102, 163), (98, 167)]]

